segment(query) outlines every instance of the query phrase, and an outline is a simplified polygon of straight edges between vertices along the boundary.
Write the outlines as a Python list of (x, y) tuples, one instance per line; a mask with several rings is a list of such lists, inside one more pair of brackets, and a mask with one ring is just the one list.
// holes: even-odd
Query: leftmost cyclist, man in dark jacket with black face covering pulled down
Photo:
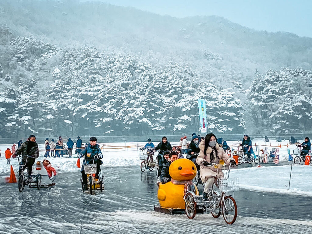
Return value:
[[(27, 141), (25, 141), (21, 146), (15, 151), (12, 158), (22, 154), (21, 165), (25, 164), (28, 168), (28, 179), (32, 179), (32, 165), (34, 165), (36, 158), (39, 157), (38, 144), (36, 142), (36, 137), (30, 135)], [(18, 174), (21, 175), (23, 166), (19, 167)]]

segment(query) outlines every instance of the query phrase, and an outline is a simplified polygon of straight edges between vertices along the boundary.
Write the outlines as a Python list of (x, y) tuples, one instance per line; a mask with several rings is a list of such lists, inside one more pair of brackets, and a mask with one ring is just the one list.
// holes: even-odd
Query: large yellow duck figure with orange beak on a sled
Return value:
[[(160, 207), (172, 209), (184, 209), (184, 186), (187, 181), (191, 181), (197, 173), (195, 164), (186, 158), (173, 161), (169, 167), (171, 181), (165, 184), (160, 183), (157, 197)], [(183, 183), (185, 181), (185, 183)], [(195, 185), (194, 185), (195, 186)], [(195, 186), (196, 194), (198, 189)]]

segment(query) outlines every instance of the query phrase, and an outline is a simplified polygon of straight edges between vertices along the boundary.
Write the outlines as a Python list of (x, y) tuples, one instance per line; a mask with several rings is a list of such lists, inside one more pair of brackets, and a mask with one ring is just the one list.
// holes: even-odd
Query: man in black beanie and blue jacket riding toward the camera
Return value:
[[(83, 156), (85, 157), (83, 160), (83, 165), (93, 164), (93, 162), (94, 164), (96, 164), (95, 178), (98, 179), (101, 170), (100, 165), (103, 164), (103, 162), (101, 161), (101, 158), (103, 158), (103, 154), (101, 152), (100, 146), (96, 144), (96, 142), (96, 137), (90, 137), (90, 144), (88, 144), (88, 146), (80, 152), (78, 158), (81, 158)], [(85, 169), (83, 168), (83, 165), (80, 172), (82, 174), (82, 183), (84, 183), (85, 190), (87, 190), (87, 175), (85, 174)]]

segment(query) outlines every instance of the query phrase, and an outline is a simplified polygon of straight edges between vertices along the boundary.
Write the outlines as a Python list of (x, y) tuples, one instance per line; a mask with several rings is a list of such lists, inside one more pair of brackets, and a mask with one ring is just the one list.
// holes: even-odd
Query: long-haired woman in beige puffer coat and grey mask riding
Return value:
[(236, 162), (233, 158), (227, 156), (222, 147), (217, 143), (217, 137), (212, 133), (207, 134), (205, 140), (201, 141), (198, 147), (200, 152), (196, 158), (196, 163), (200, 165), (200, 178), (205, 184), (203, 198), (207, 200), (208, 192), (215, 178), (223, 178), (222, 171), (219, 169), (218, 173), (217, 168), (211, 166), (211, 163), (219, 164), (221, 159), (227, 165), (235, 165)]

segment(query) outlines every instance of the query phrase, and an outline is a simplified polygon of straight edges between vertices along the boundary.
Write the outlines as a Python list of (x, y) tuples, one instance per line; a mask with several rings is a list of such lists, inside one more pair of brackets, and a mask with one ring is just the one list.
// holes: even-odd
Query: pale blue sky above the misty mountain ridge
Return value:
[(312, 0), (101, 1), (173, 17), (217, 15), (256, 30), (284, 31), (312, 37)]

